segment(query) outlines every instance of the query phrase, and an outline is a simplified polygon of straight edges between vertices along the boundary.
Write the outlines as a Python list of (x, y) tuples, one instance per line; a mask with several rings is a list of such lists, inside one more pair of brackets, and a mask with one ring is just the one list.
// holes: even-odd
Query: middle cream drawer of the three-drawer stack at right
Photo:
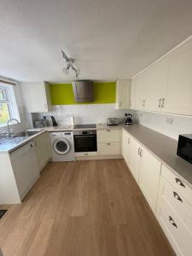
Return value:
[(164, 183), (163, 200), (172, 206), (177, 215), (183, 220), (183, 223), (192, 232), (192, 207), (164, 177), (162, 177), (161, 182)]

